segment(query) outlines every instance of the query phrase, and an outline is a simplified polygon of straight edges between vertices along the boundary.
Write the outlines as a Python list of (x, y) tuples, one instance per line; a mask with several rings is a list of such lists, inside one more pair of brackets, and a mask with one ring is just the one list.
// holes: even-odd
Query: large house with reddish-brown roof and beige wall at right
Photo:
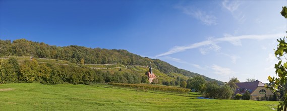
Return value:
[(235, 83), (238, 88), (235, 91), (235, 94), (244, 94), (246, 91), (250, 92), (251, 100), (256, 99), (256, 97), (269, 97), (270, 95), (273, 95), (273, 92), (270, 89), (267, 89), (265, 87), (265, 84), (256, 80), (253, 82), (240, 82)]

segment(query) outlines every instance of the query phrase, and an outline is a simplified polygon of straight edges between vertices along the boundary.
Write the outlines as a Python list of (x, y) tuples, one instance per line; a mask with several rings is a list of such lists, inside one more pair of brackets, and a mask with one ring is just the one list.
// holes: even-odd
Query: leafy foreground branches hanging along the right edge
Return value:
[[(287, 19), (287, 7), (282, 7), (281, 15)], [(283, 86), (286, 85), (287, 81), (287, 62), (282, 63), (282, 59), (287, 60), (286, 55), (287, 55), (287, 40), (285, 40), (285, 37), (283, 39), (280, 38), (277, 39), (279, 44), (277, 45), (277, 49), (275, 49), (275, 56), (277, 60), (279, 61), (278, 64), (275, 64), (275, 73), (278, 77), (270, 77), (268, 76), (268, 81), (271, 83), (268, 88), (272, 89), (274, 92), (275, 91), (283, 91), (284, 94), (284, 99), (282, 102), (278, 104), (277, 110), (284, 110), (286, 111), (287, 108), (287, 93), (286, 93), (286, 88)]]

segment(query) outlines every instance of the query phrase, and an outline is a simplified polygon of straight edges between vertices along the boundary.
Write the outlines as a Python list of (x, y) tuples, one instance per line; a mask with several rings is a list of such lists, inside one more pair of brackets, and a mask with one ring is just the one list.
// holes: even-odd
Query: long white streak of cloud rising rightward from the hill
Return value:
[[(211, 46), (212, 47), (212, 45), (214, 45), (214, 44), (216, 44), (216, 46), (218, 46), (217, 44), (221, 43), (221, 42), (229, 42), (229, 43), (232, 43), (233, 45), (237, 46), (237, 45), (242, 45), (241, 44), (242, 39), (264, 40), (264, 39), (275, 39), (275, 38), (278, 38), (281, 36), (285, 36), (285, 33), (268, 34), (268, 35), (241, 35), (241, 36), (228, 36), (228, 37), (224, 36), (221, 38), (212, 38), (212, 39), (208, 39), (208, 40), (205, 40), (202, 42), (193, 43), (193, 44), (186, 45), (186, 46), (174, 46), (169, 51), (164, 52), (164, 53), (160, 53), (160, 54), (156, 55), (155, 57), (161, 57), (164, 55), (169, 55), (169, 54), (173, 54), (173, 53), (177, 53), (177, 52), (182, 52), (182, 51), (185, 51), (187, 49), (199, 48), (199, 47), (203, 47), (203, 46)], [(214, 48), (215, 51), (216, 51), (216, 49), (218, 49), (218, 50), (220, 49), (220, 48), (216, 48), (216, 46)], [(201, 50), (201, 51), (204, 52), (204, 50)]]

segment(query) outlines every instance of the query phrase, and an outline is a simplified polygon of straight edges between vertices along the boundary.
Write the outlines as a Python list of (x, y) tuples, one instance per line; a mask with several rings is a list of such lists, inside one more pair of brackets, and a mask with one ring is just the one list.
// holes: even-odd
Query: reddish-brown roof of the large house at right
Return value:
[(264, 83), (256, 80), (256, 81), (253, 81), (253, 82), (239, 82), (239, 83), (235, 83), (238, 88), (236, 89), (235, 93), (240, 93), (240, 94), (243, 94), (245, 93), (246, 91), (249, 91), (250, 93), (252, 93), (257, 87), (259, 86), (265, 86)]

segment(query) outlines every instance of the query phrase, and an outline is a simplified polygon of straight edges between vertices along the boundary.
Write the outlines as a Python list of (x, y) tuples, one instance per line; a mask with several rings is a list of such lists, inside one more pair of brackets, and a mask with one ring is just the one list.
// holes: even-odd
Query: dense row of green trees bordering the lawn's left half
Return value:
[(0, 83), (30, 83), (42, 84), (92, 84), (92, 83), (147, 83), (146, 75), (136, 72), (102, 72), (84, 66), (75, 67), (53, 63), (40, 63), (36, 60), (18, 62), (15, 58), (2, 62), (0, 68)]

